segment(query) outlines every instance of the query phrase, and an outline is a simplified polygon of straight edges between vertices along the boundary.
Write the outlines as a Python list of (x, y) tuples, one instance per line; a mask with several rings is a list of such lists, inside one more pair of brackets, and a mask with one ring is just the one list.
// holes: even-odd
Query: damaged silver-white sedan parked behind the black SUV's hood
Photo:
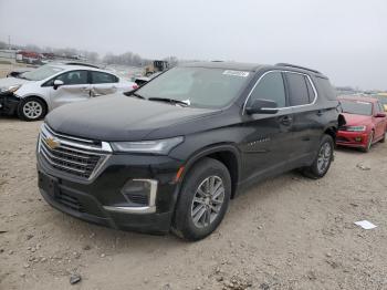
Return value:
[(96, 66), (50, 63), (17, 77), (0, 79), (0, 113), (35, 121), (64, 104), (136, 87), (136, 83)]

